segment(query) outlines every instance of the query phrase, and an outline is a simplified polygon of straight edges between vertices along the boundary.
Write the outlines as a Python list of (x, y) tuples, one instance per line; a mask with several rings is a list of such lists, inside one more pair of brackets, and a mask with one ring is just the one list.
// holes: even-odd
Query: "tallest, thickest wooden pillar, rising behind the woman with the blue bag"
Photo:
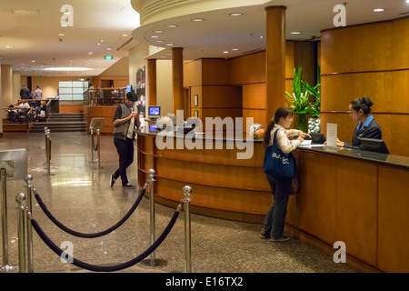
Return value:
[(285, 105), (285, 6), (268, 6), (266, 11), (266, 125), (278, 107)]

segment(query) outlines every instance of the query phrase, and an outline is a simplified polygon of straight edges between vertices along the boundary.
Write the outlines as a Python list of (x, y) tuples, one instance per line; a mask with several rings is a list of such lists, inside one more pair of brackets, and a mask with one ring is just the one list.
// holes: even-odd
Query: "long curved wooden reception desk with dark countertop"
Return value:
[[(139, 186), (155, 169), (156, 202), (175, 206), (188, 185), (192, 212), (263, 223), (273, 196), (261, 140), (252, 141), (251, 158), (237, 159), (244, 150), (228, 138), (197, 135), (204, 148), (188, 149), (183, 135), (173, 136), (173, 149), (159, 149), (157, 137), (145, 128), (137, 142)], [(347, 264), (360, 271), (409, 272), (409, 157), (327, 147), (294, 156), (300, 190), (290, 196), (285, 231), (331, 255), (344, 242)]]

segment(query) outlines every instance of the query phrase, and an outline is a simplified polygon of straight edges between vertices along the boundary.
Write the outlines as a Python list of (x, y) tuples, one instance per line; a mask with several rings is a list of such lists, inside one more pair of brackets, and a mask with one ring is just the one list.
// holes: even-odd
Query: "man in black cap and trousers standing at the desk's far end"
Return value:
[(122, 186), (125, 189), (135, 189), (126, 176), (126, 169), (134, 162), (135, 130), (139, 127), (139, 113), (135, 102), (138, 96), (135, 92), (126, 94), (125, 103), (118, 105), (114, 115), (114, 145), (119, 155), (119, 167), (111, 175), (109, 185), (112, 187), (115, 180), (121, 176)]

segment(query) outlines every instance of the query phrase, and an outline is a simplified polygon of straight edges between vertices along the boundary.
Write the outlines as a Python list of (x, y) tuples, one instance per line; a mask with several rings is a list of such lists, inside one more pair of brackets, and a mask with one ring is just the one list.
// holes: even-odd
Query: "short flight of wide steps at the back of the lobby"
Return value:
[(47, 122), (35, 122), (31, 127), (31, 133), (44, 133), (47, 127), (53, 132), (85, 132), (85, 121), (82, 113), (53, 113)]

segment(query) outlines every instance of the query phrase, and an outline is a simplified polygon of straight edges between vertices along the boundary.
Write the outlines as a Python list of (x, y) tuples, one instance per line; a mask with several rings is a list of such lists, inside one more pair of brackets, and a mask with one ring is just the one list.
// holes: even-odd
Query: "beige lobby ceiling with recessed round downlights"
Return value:
[[(409, 15), (406, 0), (343, 1), (346, 25)], [(182, 15), (139, 26), (131, 0), (0, 0), (0, 64), (13, 65), (22, 75), (99, 75), (139, 43), (155, 46), (155, 53), (146, 58), (170, 59), (172, 47), (184, 47), (185, 59), (245, 55), (265, 47), (265, 6), (287, 6), (287, 39), (314, 40), (321, 30), (334, 28), (334, 6), (343, 1), (265, 1), (264, 5)], [(61, 26), (65, 3), (73, 7), (73, 26)], [(374, 12), (375, 8), (384, 8), (384, 12)], [(193, 22), (194, 18), (204, 21)], [(105, 60), (105, 55), (113, 55), (114, 60)], [(91, 70), (46, 71), (49, 67)]]

